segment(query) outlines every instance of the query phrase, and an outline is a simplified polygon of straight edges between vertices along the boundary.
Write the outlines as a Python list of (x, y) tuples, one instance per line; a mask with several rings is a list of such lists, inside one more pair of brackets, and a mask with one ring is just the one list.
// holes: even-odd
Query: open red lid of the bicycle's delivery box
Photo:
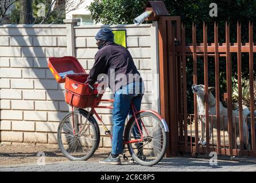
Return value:
[(86, 73), (75, 57), (50, 57), (48, 67), (59, 83), (65, 82), (65, 73)]

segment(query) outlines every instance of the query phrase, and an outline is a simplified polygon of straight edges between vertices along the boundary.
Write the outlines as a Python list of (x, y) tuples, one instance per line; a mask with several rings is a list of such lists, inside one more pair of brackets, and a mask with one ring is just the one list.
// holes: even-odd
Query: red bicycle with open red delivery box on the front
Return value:
[[(49, 58), (48, 66), (57, 82), (65, 82), (65, 102), (72, 106), (72, 111), (67, 113), (59, 124), (59, 148), (69, 160), (88, 160), (98, 149), (100, 142), (99, 125), (95, 117), (103, 126), (105, 135), (110, 136), (112, 140), (110, 130), (95, 109), (113, 109), (113, 106), (99, 104), (109, 104), (114, 100), (102, 100), (104, 90), (99, 84), (84, 83), (88, 74), (84, 73), (83, 67), (75, 58), (52, 57)], [(67, 73), (70, 68), (75, 70), (74, 74), (61, 77), (61, 73)], [(74, 111), (73, 107), (78, 109)], [(123, 160), (128, 160), (125, 156), (127, 145), (131, 157), (138, 164), (155, 165), (164, 157), (168, 144), (168, 126), (164, 118), (153, 110), (137, 111), (133, 103), (131, 109), (133, 115), (127, 121), (123, 136)]]

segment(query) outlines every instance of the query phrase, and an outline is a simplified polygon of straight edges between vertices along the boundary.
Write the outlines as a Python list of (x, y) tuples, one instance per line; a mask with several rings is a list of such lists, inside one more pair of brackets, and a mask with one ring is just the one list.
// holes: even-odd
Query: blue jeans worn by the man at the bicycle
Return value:
[[(143, 82), (131, 82), (115, 92), (113, 109), (113, 141), (112, 154), (121, 154), (123, 151), (123, 130), (127, 115), (133, 115), (131, 101), (137, 110), (141, 109), (141, 100), (145, 87)], [(137, 126), (134, 126), (137, 128)], [(133, 129), (135, 131), (136, 129)], [(138, 130), (137, 130), (138, 131)], [(136, 137), (135, 137), (136, 138)]]

